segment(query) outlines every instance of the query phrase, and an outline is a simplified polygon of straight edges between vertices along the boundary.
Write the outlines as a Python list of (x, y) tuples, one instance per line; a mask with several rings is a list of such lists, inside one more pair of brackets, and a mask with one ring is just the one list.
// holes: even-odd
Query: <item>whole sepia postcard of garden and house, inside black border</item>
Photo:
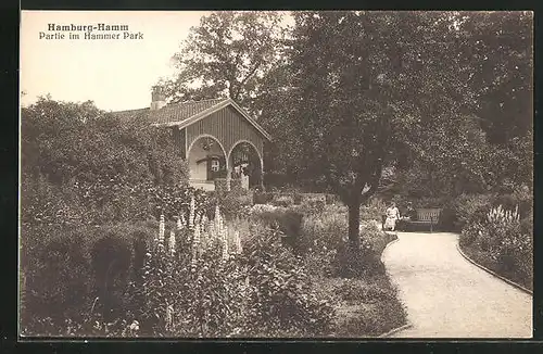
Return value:
[(20, 339), (528, 339), (530, 11), (22, 11)]

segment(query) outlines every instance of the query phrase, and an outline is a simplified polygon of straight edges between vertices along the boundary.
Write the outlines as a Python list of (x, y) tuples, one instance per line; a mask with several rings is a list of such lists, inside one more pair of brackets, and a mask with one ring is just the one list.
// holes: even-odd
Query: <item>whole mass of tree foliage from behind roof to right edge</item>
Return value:
[(266, 180), (338, 194), (354, 243), (376, 192), (531, 186), (530, 13), (303, 11), (279, 30), (280, 17), (203, 17), (166, 86), (239, 99), (276, 137)]

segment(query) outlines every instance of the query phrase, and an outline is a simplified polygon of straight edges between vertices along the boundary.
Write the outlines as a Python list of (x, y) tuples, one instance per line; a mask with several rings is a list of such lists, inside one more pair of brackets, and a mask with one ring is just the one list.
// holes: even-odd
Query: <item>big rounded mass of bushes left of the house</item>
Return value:
[(21, 119), (23, 223), (147, 219), (186, 192), (171, 137), (141, 117), (122, 122), (91, 102), (42, 98)]

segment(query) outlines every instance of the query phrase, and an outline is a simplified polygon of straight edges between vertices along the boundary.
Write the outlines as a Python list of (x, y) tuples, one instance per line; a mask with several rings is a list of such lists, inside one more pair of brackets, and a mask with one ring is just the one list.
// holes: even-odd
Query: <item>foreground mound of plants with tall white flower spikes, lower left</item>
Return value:
[[(124, 237), (118, 225), (119, 233), (100, 228), (96, 242), (87, 245), (84, 235), (63, 236), (59, 246), (51, 243), (42, 262), (28, 263), (24, 270), (30, 281), (22, 299), (23, 333), (200, 338), (332, 332), (329, 299), (315, 291), (301, 260), (281, 245), (280, 233), (252, 224), (241, 235), (228, 227), (218, 207), (209, 218), (194, 204), (192, 199), (177, 223), (161, 217), (159, 225), (150, 225), (155, 230), (142, 235), (143, 246), (135, 235)], [(83, 251), (86, 246), (90, 252)], [(68, 267), (54, 271), (60, 265)]]

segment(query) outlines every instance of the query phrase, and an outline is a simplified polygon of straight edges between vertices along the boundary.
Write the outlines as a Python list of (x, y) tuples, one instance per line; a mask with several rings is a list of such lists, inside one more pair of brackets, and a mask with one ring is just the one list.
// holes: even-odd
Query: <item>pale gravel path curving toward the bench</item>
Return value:
[(413, 327), (392, 337), (532, 337), (532, 296), (467, 262), (457, 235), (397, 237), (382, 261)]

